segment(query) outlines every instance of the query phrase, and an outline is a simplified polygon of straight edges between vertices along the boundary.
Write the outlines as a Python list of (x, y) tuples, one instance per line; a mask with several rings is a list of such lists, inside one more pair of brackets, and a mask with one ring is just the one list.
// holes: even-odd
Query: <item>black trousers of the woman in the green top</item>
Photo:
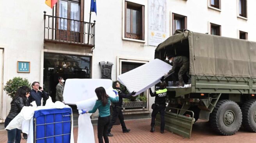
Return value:
[[(104, 138), (105, 143), (109, 143), (108, 134), (107, 134), (109, 122), (110, 122), (110, 116), (98, 118), (98, 140), (99, 140), (99, 143), (103, 143), (103, 138)], [(102, 136), (103, 136), (103, 138), (102, 138)]]

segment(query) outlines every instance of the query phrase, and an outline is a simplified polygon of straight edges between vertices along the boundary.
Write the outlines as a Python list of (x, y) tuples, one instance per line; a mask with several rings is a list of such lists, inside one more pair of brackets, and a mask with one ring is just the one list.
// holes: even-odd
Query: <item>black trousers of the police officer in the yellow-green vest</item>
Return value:
[(153, 109), (151, 114), (151, 126), (155, 126), (155, 120), (156, 120), (156, 114), (160, 112), (161, 117), (161, 131), (164, 131), (164, 114), (165, 114), (165, 105), (156, 106), (155, 109)]

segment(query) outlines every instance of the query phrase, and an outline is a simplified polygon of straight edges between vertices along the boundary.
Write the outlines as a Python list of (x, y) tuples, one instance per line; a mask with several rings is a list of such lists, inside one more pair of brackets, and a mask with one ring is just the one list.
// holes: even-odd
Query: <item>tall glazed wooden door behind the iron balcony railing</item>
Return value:
[[(59, 0), (57, 4), (57, 38), (58, 40), (81, 42), (80, 21), (83, 20), (84, 0)], [(82, 24), (83, 25), (83, 24)]]

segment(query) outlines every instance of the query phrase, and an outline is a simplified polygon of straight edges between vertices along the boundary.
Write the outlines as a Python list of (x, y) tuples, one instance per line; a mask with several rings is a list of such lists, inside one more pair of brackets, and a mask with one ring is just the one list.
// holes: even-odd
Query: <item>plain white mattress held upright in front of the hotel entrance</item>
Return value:
[[(104, 87), (105, 90), (112, 87), (110, 79), (67, 79), (65, 82), (63, 98), (66, 104), (75, 105), (96, 96), (95, 89)], [(111, 93), (112, 94), (112, 93)]]

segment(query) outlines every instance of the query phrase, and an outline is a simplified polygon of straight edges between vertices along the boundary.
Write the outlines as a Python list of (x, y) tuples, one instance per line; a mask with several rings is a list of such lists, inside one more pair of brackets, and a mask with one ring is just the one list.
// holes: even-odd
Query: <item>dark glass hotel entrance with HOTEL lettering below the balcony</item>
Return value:
[(91, 57), (44, 53), (43, 87), (55, 102), (58, 77), (91, 78)]

